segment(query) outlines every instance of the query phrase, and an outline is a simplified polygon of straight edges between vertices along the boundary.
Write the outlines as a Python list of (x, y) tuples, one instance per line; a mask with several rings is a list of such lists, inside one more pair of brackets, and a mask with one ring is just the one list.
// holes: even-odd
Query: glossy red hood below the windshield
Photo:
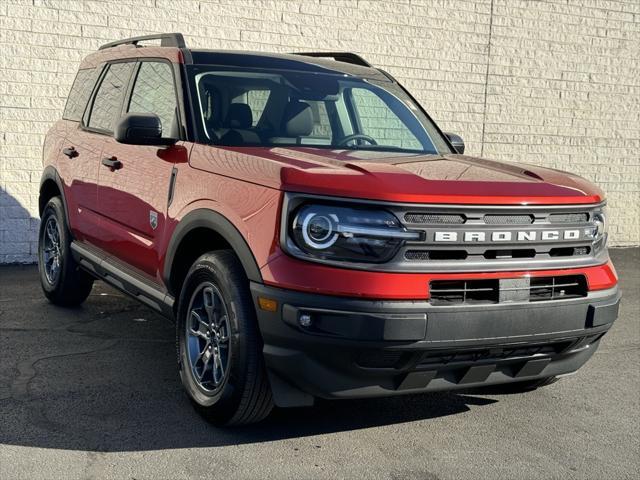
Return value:
[[(542, 205), (604, 200), (599, 188), (576, 175), (466, 155), (308, 147), (205, 148), (209, 162), (198, 166), (192, 160), (194, 167), (221, 173), (226, 165), (234, 167), (235, 175), (230, 171), (230, 176), (238, 176), (238, 165), (243, 165), (251, 177), (246, 180), (292, 192), (407, 203)], [(211, 162), (218, 166), (206, 168)]]

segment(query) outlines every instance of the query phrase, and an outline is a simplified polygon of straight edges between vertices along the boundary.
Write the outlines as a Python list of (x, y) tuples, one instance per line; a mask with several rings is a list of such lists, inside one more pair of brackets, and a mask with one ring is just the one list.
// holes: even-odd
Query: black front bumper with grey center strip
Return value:
[[(618, 288), (535, 303), (432, 306), (252, 283), (275, 402), (470, 388), (575, 372), (618, 316)], [(277, 301), (275, 312), (258, 297)], [(302, 327), (299, 317), (311, 316)]]

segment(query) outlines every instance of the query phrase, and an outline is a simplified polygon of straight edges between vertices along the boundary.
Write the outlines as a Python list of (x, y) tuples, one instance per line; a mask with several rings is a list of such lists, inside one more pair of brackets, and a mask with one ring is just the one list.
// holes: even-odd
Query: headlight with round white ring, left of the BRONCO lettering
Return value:
[(293, 213), (290, 225), (292, 253), (322, 260), (382, 263), (406, 240), (421, 238), (385, 210), (307, 204)]

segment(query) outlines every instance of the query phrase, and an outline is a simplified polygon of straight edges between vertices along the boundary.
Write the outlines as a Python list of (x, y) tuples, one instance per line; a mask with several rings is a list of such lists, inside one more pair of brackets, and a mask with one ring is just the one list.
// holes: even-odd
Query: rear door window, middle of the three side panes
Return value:
[(90, 128), (113, 131), (113, 126), (122, 111), (122, 101), (133, 65), (131, 62), (109, 65), (93, 100), (87, 124)]

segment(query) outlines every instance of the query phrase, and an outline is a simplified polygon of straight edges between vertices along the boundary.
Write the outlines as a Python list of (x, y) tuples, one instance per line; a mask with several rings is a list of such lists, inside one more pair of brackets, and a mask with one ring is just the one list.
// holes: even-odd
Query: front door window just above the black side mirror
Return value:
[(162, 135), (172, 137), (177, 136), (176, 108), (171, 66), (164, 62), (142, 62), (127, 112), (156, 114), (162, 123)]

